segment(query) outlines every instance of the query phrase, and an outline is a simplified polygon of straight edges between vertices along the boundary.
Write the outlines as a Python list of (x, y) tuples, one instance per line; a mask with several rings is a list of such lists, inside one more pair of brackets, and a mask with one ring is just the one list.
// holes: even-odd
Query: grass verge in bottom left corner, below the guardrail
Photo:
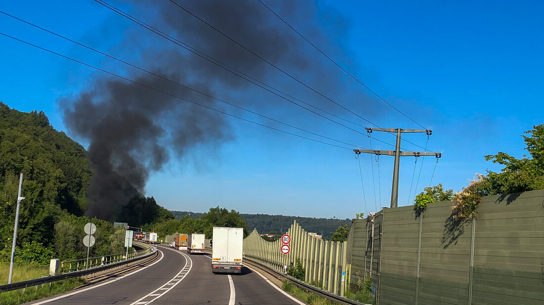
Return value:
[(64, 279), (63, 281), (57, 281), (50, 284), (28, 287), (26, 289), (19, 289), (14, 291), (8, 291), (7, 293), (2, 293), (0, 295), (0, 304), (2, 305), (17, 305), (34, 300), (39, 300), (40, 298), (52, 296), (55, 294), (65, 293), (70, 291), (79, 285), (85, 283), (83, 278), (69, 278)]

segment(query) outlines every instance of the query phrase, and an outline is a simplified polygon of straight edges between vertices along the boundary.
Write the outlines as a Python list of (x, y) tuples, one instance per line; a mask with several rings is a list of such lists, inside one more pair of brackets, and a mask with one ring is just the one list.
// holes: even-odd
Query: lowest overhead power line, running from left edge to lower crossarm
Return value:
[(213, 111), (215, 111), (215, 112), (222, 113), (223, 115), (226, 115), (226, 116), (230, 116), (230, 117), (233, 117), (233, 118), (237, 118), (237, 119), (243, 120), (243, 121), (245, 121), (245, 122), (252, 123), (252, 124), (255, 124), (255, 125), (259, 125), (259, 126), (262, 126), (262, 127), (268, 128), (268, 129), (276, 130), (276, 131), (282, 132), (283, 134), (288, 134), (288, 135), (291, 135), (291, 136), (295, 136), (295, 137), (307, 139), (307, 140), (309, 140), (309, 141), (313, 141), (313, 142), (317, 142), (317, 143), (322, 143), (322, 144), (325, 144), (325, 145), (330, 145), (330, 146), (332, 146), (332, 147), (337, 147), (337, 148), (342, 148), (342, 149), (351, 150), (351, 149), (348, 148), (348, 147), (342, 147), (342, 146), (339, 146), (339, 145), (336, 145), (336, 144), (331, 144), (331, 143), (319, 141), (319, 140), (316, 140), (316, 139), (308, 138), (308, 137), (305, 137), (305, 136), (293, 134), (292, 132), (288, 132), (288, 131), (285, 131), (285, 130), (281, 130), (281, 129), (278, 129), (278, 128), (274, 128), (274, 127), (272, 127), (272, 126), (268, 126), (268, 125), (264, 125), (264, 124), (261, 124), (261, 123), (254, 122), (254, 121), (249, 120), (249, 119), (246, 119), (246, 118), (242, 118), (242, 117), (239, 117), (239, 116), (236, 116), (236, 115), (232, 115), (231, 113), (228, 113), (228, 112), (225, 112), (225, 111), (221, 111), (221, 110), (218, 110), (218, 109), (215, 109), (215, 108), (213, 108), (213, 107), (206, 106), (206, 105), (202, 105), (202, 104), (200, 104), (200, 103), (196, 103), (195, 101), (192, 101), (192, 100), (189, 100), (189, 99), (186, 99), (186, 98), (182, 98), (182, 97), (176, 96), (175, 94), (171, 94), (171, 93), (168, 93), (168, 92), (159, 90), (159, 89), (157, 89), (157, 88), (154, 88), (154, 87), (151, 87), (151, 86), (142, 84), (141, 82), (138, 82), (138, 81), (135, 81), (135, 80), (126, 78), (126, 77), (122, 77), (122, 76), (119, 75), (119, 74), (115, 74), (115, 73), (113, 73), (113, 72), (109, 72), (109, 71), (107, 71), (107, 70), (105, 70), (105, 69), (98, 68), (98, 67), (96, 67), (96, 66), (92, 66), (92, 65), (90, 65), (89, 63), (85, 63), (85, 62), (83, 62), (83, 61), (79, 61), (79, 60), (77, 60), (77, 59), (70, 58), (69, 56), (66, 56), (66, 55), (63, 55), (63, 54), (54, 52), (54, 51), (52, 51), (52, 50), (49, 50), (49, 49), (46, 49), (46, 48), (43, 48), (43, 47), (34, 45), (33, 43), (30, 43), (30, 42), (27, 42), (27, 41), (18, 39), (18, 38), (16, 38), (16, 37), (10, 36), (10, 35), (8, 35), (8, 34), (4, 34), (4, 33), (1, 33), (1, 32), (0, 32), (0, 35), (3, 35), (3, 36), (5, 36), (5, 37), (11, 38), (11, 39), (13, 39), (13, 40), (16, 40), (16, 41), (19, 41), (19, 42), (22, 42), (22, 43), (25, 43), (26, 45), (29, 45), (29, 46), (32, 46), (32, 47), (35, 47), (35, 48), (44, 50), (44, 51), (49, 52), (49, 53), (51, 53), (51, 54), (58, 55), (58, 56), (60, 56), (60, 57), (62, 57), (62, 58), (65, 58), (65, 59), (68, 59), (68, 60), (77, 62), (77, 63), (79, 63), (79, 64), (81, 64), (81, 65), (84, 65), (84, 66), (89, 67), (89, 68), (92, 68), (92, 69), (96, 69), (96, 70), (98, 70), (98, 71), (101, 71), (101, 72), (103, 72), (103, 73), (112, 75), (112, 76), (114, 76), (114, 77), (118, 77), (118, 78), (120, 78), (120, 79), (129, 81), (129, 82), (132, 82), (133, 84), (137, 84), (137, 85), (140, 85), (140, 86), (149, 88), (149, 89), (151, 89), (151, 90), (154, 90), (154, 91), (157, 91), (157, 92), (166, 94), (166, 95), (168, 95), (168, 96), (170, 96), (170, 97), (173, 97), (173, 98), (177, 98), (177, 99), (180, 99), (180, 100), (187, 101), (188, 103), (191, 103), (191, 104), (194, 104), (194, 105), (197, 105), (197, 106), (204, 107), (204, 108), (206, 108), (206, 109), (208, 109), (208, 110), (213, 110)]

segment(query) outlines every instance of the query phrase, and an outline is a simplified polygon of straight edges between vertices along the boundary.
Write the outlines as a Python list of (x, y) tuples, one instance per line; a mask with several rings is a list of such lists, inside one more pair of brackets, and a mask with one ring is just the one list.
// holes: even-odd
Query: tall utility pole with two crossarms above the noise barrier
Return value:
[(412, 156), (412, 157), (423, 157), (423, 156), (435, 156), (437, 158), (442, 157), (441, 153), (432, 153), (427, 151), (400, 151), (400, 134), (403, 132), (425, 132), (427, 136), (432, 134), (431, 129), (401, 129), (401, 128), (365, 128), (368, 132), (368, 135), (372, 131), (385, 131), (385, 132), (396, 132), (397, 133), (397, 143), (395, 144), (395, 150), (370, 150), (370, 149), (354, 149), (355, 154), (360, 155), (361, 153), (365, 154), (375, 154), (375, 155), (388, 155), (395, 156), (394, 166), (393, 166), (393, 185), (391, 187), (391, 207), (397, 207), (399, 199), (399, 167), (400, 159), (399, 157), (403, 156)]

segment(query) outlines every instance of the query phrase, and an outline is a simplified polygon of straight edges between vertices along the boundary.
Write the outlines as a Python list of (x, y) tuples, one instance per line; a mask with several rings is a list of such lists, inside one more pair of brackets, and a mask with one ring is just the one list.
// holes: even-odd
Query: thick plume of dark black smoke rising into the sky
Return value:
[[(292, 71), (305, 71), (311, 65), (300, 38), (280, 26), (257, 1), (179, 3), (275, 64)], [(259, 79), (277, 73), (168, 1), (133, 3), (133, 14), (147, 22), (152, 10), (156, 10), (157, 19), (151, 23), (208, 55)], [(220, 92), (221, 97), (231, 91), (241, 94), (249, 84), (168, 41), (157, 42), (150, 36), (153, 34), (143, 28), (131, 28), (116, 50), (137, 54), (134, 57), (141, 65), (151, 67), (154, 73), (200, 91)], [(128, 73), (129, 78), (147, 86), (222, 107), (217, 101), (153, 75)], [(149, 175), (162, 169), (171, 157), (179, 160), (195, 147), (216, 146), (234, 138), (222, 115), (109, 76), (97, 77), (78, 96), (65, 97), (61, 107), (67, 128), (89, 143), (88, 156), (94, 169), (87, 190), (87, 215), (91, 217), (112, 220), (132, 196), (143, 192)]]

